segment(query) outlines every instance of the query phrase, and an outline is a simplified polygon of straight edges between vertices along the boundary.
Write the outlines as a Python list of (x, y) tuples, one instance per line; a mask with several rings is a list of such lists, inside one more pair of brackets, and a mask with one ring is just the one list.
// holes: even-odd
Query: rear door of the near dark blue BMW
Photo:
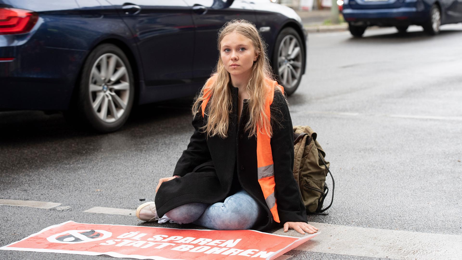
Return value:
[(191, 81), (194, 24), (183, 0), (108, 0), (137, 39), (145, 85)]

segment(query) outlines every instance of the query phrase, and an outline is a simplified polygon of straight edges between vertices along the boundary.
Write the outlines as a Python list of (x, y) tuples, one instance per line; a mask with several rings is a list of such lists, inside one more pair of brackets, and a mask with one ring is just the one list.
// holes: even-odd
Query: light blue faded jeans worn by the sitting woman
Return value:
[(244, 190), (215, 204), (188, 203), (165, 215), (178, 224), (193, 223), (216, 230), (250, 229), (266, 212)]

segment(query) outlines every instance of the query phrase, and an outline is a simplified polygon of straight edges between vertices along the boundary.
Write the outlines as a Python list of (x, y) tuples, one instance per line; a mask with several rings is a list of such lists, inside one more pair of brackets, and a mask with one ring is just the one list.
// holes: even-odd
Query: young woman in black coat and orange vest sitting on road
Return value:
[[(284, 224), (301, 234), (307, 223), (292, 175), (292, 121), (283, 87), (272, 78), (255, 25), (232, 20), (219, 31), (215, 73), (196, 96), (195, 131), (162, 178), (155, 204), (138, 207), (143, 221), (194, 223), (209, 229), (267, 230)], [(159, 221), (160, 222), (160, 221)]]

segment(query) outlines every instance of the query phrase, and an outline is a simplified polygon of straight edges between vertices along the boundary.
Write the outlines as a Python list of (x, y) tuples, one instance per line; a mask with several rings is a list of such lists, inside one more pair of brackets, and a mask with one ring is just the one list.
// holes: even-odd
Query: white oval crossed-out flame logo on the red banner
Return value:
[(53, 243), (76, 244), (103, 240), (112, 235), (105, 230), (67, 230), (56, 235), (47, 237)]

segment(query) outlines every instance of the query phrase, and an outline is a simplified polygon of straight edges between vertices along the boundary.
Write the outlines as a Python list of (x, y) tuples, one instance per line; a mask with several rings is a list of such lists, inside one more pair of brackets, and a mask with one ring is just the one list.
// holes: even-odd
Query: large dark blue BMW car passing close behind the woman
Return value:
[(117, 130), (133, 105), (197, 93), (231, 19), (256, 25), (293, 93), (306, 35), (291, 8), (269, 0), (0, 0), (0, 110), (67, 111)]

